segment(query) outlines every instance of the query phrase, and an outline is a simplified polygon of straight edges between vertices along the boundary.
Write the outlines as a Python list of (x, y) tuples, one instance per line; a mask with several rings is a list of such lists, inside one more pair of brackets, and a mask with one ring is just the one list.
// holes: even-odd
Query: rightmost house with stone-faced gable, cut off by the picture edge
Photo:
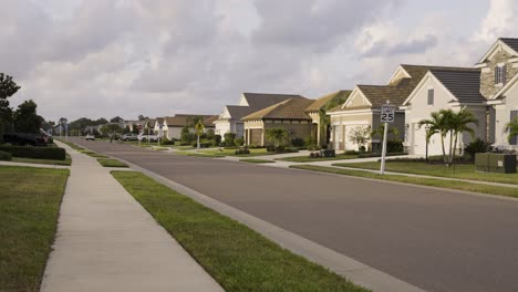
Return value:
[(507, 139), (506, 124), (518, 117), (518, 39), (500, 38), (475, 65), (480, 69), (480, 93), (494, 112), (491, 138), (498, 148), (518, 149), (518, 138)]

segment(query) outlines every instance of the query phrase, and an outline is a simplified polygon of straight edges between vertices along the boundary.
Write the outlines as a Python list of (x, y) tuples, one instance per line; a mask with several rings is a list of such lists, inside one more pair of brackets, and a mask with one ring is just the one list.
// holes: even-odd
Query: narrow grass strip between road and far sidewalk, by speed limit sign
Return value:
[(457, 190), (466, 190), (466, 191), (518, 198), (518, 188), (514, 188), (514, 187), (489, 186), (489, 185), (464, 182), (464, 181), (458, 182), (458, 181), (444, 180), (444, 179), (438, 179), (438, 178), (436, 179), (436, 178), (408, 177), (408, 176), (403, 176), (403, 175), (385, 174), (382, 176), (380, 174), (374, 174), (374, 173), (363, 171), (363, 170), (341, 169), (341, 168), (335, 168), (335, 167), (313, 166), (313, 165), (292, 165), (290, 166), (290, 168), (313, 170), (313, 171), (328, 173), (328, 174), (338, 174), (338, 175), (353, 176), (353, 177), (374, 178), (374, 179), (380, 179), (380, 180), (391, 180), (391, 181), (406, 182), (406, 184), (413, 184), (413, 185), (423, 185), (423, 186), (438, 187), (438, 188), (445, 188), (445, 189), (457, 189)]

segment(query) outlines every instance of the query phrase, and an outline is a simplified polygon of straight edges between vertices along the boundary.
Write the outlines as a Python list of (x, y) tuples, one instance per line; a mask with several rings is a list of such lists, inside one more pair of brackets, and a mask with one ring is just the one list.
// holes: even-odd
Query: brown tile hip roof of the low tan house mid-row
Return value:
[(304, 109), (311, 105), (314, 100), (308, 98), (290, 98), (278, 104), (271, 105), (261, 111), (247, 115), (242, 121), (251, 119), (305, 119), (311, 121), (311, 117)]

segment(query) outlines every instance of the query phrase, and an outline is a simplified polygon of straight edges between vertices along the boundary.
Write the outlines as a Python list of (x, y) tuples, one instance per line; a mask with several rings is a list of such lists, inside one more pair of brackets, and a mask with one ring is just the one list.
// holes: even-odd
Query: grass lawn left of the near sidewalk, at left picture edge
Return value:
[(0, 166), (0, 291), (39, 291), (68, 169)]

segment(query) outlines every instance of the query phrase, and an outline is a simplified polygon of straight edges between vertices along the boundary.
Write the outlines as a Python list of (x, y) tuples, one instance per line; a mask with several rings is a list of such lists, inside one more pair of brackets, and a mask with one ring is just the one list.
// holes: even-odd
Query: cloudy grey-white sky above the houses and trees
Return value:
[(401, 63), (470, 66), (518, 38), (516, 0), (0, 0), (0, 72), (55, 121), (219, 114), (318, 97)]

